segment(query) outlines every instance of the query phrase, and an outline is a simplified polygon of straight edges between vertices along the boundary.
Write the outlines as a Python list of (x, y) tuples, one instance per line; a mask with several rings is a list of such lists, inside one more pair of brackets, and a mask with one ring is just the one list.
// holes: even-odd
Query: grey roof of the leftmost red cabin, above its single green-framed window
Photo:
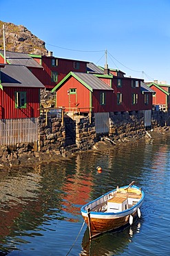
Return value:
[(1, 68), (1, 86), (45, 87), (26, 66), (8, 64)]

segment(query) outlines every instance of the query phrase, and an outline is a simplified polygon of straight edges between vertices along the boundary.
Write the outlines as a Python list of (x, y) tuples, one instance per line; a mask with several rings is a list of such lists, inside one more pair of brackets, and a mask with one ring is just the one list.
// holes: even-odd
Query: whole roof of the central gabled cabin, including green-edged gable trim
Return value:
[(109, 85), (105, 84), (105, 82), (101, 81), (98, 77), (96, 77), (93, 74), (88, 73), (78, 73), (78, 72), (70, 72), (68, 73), (59, 84), (57, 84), (54, 89), (52, 89), (52, 92), (56, 91), (56, 89), (59, 89), (59, 87), (64, 84), (65, 80), (67, 80), (69, 77), (74, 77), (78, 82), (81, 82), (89, 91), (94, 90), (103, 90), (103, 91), (114, 91)]

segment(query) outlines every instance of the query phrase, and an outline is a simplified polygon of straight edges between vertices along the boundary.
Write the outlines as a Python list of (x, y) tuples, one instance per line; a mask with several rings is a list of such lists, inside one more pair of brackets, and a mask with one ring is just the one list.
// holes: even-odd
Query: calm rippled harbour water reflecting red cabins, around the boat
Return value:
[[(81, 205), (131, 181), (145, 191), (141, 219), (89, 243)], [(170, 138), (1, 172), (0, 190), (0, 255), (170, 255)]]

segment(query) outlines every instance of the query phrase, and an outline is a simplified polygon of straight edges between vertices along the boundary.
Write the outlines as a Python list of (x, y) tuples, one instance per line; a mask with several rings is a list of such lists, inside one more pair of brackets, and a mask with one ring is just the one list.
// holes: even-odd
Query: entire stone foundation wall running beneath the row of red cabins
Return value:
[[(169, 113), (153, 111), (151, 116), (151, 128), (166, 127), (170, 125)], [(110, 113), (109, 134), (97, 134), (94, 116), (92, 122), (89, 116), (75, 116), (74, 120), (69, 116), (64, 117), (64, 125), (61, 118), (38, 118), (39, 152), (54, 152), (54, 154), (68, 156), (76, 151), (92, 149), (100, 140), (109, 140), (116, 144), (117, 141), (125, 142), (131, 139), (145, 136), (144, 114), (138, 111), (125, 113)], [(107, 141), (108, 142), (108, 141)], [(3, 162), (19, 164), (20, 156), (29, 158), (32, 155), (39, 157), (32, 143), (17, 143), (14, 147), (0, 147), (0, 167)]]

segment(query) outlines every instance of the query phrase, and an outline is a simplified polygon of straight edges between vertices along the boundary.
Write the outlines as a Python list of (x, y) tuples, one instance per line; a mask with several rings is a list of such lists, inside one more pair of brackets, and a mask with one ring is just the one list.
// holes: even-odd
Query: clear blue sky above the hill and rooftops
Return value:
[[(170, 84), (169, 0), (0, 0), (0, 20), (23, 25), (55, 57)], [(143, 73), (143, 72), (144, 73)]]

